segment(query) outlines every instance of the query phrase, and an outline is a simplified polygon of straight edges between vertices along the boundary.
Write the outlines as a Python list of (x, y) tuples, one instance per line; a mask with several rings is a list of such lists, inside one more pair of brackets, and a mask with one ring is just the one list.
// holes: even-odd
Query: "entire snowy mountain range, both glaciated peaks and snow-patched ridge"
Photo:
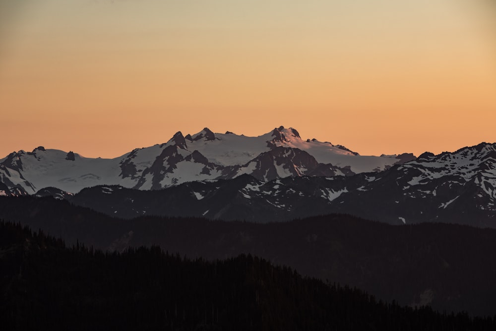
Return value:
[(496, 227), (496, 144), (439, 155), (361, 156), (295, 129), (208, 129), (116, 159), (42, 147), (0, 163), (0, 194), (53, 196), (111, 216), (252, 222), (348, 213), (390, 224)]

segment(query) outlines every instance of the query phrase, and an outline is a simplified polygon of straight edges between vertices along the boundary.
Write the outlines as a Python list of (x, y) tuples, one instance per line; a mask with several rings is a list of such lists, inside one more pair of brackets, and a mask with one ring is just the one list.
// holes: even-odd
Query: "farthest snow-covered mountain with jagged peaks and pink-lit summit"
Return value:
[(34, 194), (46, 187), (77, 193), (95, 185), (159, 190), (185, 182), (233, 179), (249, 174), (260, 181), (300, 176), (349, 176), (382, 171), (414, 159), (361, 156), (341, 145), (302, 140), (284, 127), (257, 137), (232, 132), (177, 132), (168, 142), (137, 148), (114, 159), (85, 158), (72, 151), (45, 149), (13, 152), (0, 163), (7, 194)]

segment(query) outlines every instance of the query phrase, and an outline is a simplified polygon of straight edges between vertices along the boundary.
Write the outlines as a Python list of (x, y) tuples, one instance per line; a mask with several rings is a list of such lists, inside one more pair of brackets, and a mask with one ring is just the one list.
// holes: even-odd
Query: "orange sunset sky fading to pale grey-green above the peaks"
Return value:
[(495, 123), (496, 0), (0, 0), (0, 158), (281, 125), (420, 155)]

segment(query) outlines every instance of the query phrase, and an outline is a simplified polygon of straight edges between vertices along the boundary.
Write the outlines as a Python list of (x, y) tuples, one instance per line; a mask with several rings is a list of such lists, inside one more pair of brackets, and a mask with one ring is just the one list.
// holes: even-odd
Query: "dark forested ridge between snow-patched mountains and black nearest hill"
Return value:
[(253, 224), (200, 218), (118, 219), (34, 197), (0, 199), (0, 218), (100, 249), (160, 245), (181, 256), (251, 254), (364, 289), (402, 305), (496, 313), (496, 230), (454, 224), (391, 226), (349, 215)]

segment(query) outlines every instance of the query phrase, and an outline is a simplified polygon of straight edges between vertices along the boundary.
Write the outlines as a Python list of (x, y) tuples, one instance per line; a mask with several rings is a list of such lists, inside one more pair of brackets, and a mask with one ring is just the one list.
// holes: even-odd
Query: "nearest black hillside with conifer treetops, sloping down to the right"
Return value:
[(0, 223), (3, 330), (495, 330), (495, 318), (385, 304), (251, 256), (102, 253)]

